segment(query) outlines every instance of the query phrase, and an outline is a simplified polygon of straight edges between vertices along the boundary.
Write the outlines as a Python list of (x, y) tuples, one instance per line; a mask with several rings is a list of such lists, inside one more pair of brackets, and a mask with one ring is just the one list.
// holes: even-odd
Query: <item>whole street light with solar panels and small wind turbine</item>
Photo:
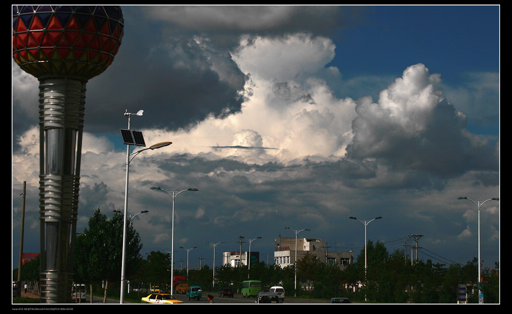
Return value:
[[(144, 110), (139, 110), (137, 112), (137, 116), (142, 116)], [(142, 136), (141, 131), (131, 130), (130, 129), (130, 118), (133, 114), (126, 111), (124, 116), (128, 119), (128, 128), (120, 129), (121, 136), (123, 138), (124, 144), (126, 144), (126, 181), (124, 185), (124, 221), (123, 221), (123, 250), (122, 250), (122, 260), (121, 260), (121, 294), (119, 296), (119, 303), (124, 303), (124, 285), (125, 285), (125, 272), (126, 272), (126, 221), (128, 216), (128, 176), (130, 173), (130, 162), (135, 158), (136, 155), (143, 152), (144, 150), (154, 150), (158, 148), (162, 148), (173, 144), (172, 142), (162, 142), (151, 145), (150, 147), (135, 151), (130, 153), (130, 145), (135, 146), (146, 146), (144, 142), (144, 138)]]

